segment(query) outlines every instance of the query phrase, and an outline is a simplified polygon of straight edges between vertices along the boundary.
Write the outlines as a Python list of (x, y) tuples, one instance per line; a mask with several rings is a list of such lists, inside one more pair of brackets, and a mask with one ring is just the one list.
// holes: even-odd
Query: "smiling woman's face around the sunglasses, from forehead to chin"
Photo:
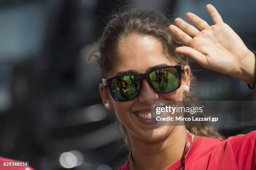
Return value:
[[(108, 72), (108, 78), (116, 76), (118, 72), (135, 70), (139, 74), (145, 73), (151, 67), (160, 64), (169, 66), (177, 63), (167, 58), (163, 53), (163, 48), (160, 41), (151, 36), (138, 36), (133, 34), (124, 38), (118, 43), (117, 57), (113, 61), (112, 70)], [(114, 109), (116, 116), (120, 122), (127, 128), (129, 136), (138, 137), (144, 141), (158, 141), (166, 137), (173, 129), (173, 126), (154, 126), (145, 124), (138, 119), (136, 111), (151, 109), (151, 101), (156, 100), (182, 100), (182, 95), (185, 92), (183, 86), (189, 86), (190, 69), (185, 67), (185, 74), (182, 78), (182, 86), (176, 91), (161, 94), (148, 84), (146, 79), (143, 79), (142, 88), (139, 96), (131, 101), (116, 101), (112, 98), (107, 88), (100, 84), (100, 92), (104, 104), (110, 103), (110, 109)], [(150, 112), (150, 111), (146, 111)]]

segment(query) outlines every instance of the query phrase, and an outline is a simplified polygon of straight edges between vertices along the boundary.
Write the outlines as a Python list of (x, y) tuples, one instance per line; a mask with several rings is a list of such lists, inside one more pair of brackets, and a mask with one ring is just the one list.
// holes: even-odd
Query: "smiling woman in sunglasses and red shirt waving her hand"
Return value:
[[(120, 170), (256, 168), (255, 131), (222, 140), (214, 126), (150, 124), (151, 101), (195, 100), (189, 91), (193, 76), (184, 56), (255, 86), (253, 52), (212, 5), (206, 9), (212, 26), (193, 13), (186, 18), (197, 28), (181, 18), (171, 25), (155, 10), (131, 9), (114, 15), (105, 27), (98, 41), (104, 78), (100, 94), (105, 107), (115, 110), (131, 149), (130, 159)], [(171, 86), (160, 84), (159, 79), (168, 76), (154, 79), (160, 72), (175, 75), (175, 80), (168, 79)], [(123, 97), (117, 79), (128, 78), (140, 83)]]

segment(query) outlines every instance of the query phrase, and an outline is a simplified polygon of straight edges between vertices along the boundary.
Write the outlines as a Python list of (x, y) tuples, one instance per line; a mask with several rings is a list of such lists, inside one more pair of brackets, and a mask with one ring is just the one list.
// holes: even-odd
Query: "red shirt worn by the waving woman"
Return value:
[[(177, 161), (167, 170), (177, 170)], [(119, 170), (127, 170), (127, 163)], [(157, 167), (156, 167), (157, 169)], [(256, 170), (256, 131), (226, 140), (197, 136), (185, 160), (186, 170)]]

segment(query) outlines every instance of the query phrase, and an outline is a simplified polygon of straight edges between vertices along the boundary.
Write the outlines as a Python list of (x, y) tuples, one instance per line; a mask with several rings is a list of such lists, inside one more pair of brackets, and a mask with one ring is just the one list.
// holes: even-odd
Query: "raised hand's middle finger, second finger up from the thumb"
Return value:
[(180, 28), (181, 30), (183, 30), (185, 33), (187, 33), (189, 36), (195, 37), (195, 35), (197, 33), (199, 33), (199, 30), (197, 30), (197, 28), (195, 28), (194, 26), (188, 24), (187, 22), (185, 22), (184, 20), (182, 20), (181, 18), (176, 18), (174, 20), (175, 25)]

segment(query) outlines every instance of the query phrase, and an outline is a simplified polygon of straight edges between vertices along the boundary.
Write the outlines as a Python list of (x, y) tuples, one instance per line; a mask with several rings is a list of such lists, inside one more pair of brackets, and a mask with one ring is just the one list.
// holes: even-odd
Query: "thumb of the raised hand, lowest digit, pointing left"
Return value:
[(189, 57), (193, 61), (199, 63), (202, 67), (207, 66), (206, 56), (200, 53), (199, 51), (195, 50), (194, 48), (182, 46), (176, 48), (175, 52)]

